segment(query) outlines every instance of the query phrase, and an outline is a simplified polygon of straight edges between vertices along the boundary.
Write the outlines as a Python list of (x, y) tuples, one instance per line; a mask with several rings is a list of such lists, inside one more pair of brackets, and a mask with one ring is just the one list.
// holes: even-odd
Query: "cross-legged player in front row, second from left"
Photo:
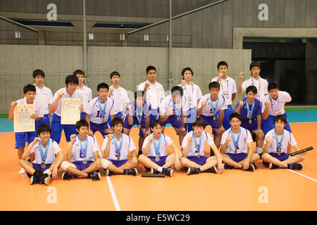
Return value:
[[(78, 135), (70, 136), (67, 160), (63, 161), (61, 168), (65, 170), (62, 179), (70, 180), (83, 176), (85, 178), (97, 181), (101, 179), (98, 169), (101, 168), (101, 160), (99, 158), (99, 146), (97, 140), (88, 135), (88, 123), (85, 119), (76, 122), (76, 131)], [(103, 162), (103, 166), (107, 164)]]

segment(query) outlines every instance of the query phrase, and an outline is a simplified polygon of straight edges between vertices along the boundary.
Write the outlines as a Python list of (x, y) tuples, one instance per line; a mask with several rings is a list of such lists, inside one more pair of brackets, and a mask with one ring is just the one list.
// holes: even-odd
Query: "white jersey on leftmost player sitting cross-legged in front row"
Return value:
[[(55, 161), (55, 155), (61, 150), (58, 143), (49, 139), (49, 150), (47, 150), (45, 164), (51, 164)], [(39, 150), (39, 143), (36, 143), (31, 149), (30, 153), (35, 153), (35, 160), (32, 163), (42, 164), (41, 152)], [(43, 147), (43, 154), (45, 153), (45, 148)]]

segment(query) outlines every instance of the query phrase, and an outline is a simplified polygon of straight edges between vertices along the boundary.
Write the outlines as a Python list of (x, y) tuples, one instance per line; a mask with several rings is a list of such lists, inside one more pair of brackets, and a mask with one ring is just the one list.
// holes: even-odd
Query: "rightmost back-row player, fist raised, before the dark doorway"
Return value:
[(268, 81), (260, 77), (261, 64), (259, 62), (252, 62), (250, 64), (251, 77), (243, 83), (244, 72), (240, 72), (240, 79), (238, 84), (238, 92), (243, 93), (248, 86), (255, 86), (257, 90), (256, 98), (263, 101), (264, 96), (268, 94)]

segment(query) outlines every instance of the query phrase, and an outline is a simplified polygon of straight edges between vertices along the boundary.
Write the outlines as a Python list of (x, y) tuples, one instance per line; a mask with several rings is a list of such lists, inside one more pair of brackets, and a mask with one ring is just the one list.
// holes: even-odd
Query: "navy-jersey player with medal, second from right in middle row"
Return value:
[(262, 154), (264, 141), (264, 133), (261, 130), (262, 104), (256, 98), (256, 92), (255, 86), (248, 86), (246, 90), (247, 98), (242, 98), (235, 105), (235, 113), (239, 113), (242, 117), (241, 127), (256, 135), (256, 153)]

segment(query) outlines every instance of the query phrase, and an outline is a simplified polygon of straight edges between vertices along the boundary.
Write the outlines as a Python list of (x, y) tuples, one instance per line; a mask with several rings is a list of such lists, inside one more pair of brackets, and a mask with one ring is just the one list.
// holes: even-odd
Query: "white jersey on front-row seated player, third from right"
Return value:
[[(188, 144), (187, 139), (189, 137), (192, 137), (192, 133), (194, 131), (190, 131), (188, 134), (186, 134), (186, 136), (184, 137), (184, 139), (182, 140), (182, 148), (185, 148)], [(199, 146), (199, 150), (196, 149), (196, 145), (194, 142), (194, 139), (192, 140), (192, 144), (189, 146), (189, 152), (187, 156), (193, 156), (193, 155), (204, 155), (204, 147), (205, 147), (205, 143), (207, 143), (209, 146), (211, 146), (213, 144), (213, 138), (210, 136), (209, 133), (207, 133), (206, 131), (202, 131), (202, 136), (201, 136), (201, 145)], [(199, 139), (200, 136), (196, 138), (197, 141), (197, 146), (199, 145)]]

